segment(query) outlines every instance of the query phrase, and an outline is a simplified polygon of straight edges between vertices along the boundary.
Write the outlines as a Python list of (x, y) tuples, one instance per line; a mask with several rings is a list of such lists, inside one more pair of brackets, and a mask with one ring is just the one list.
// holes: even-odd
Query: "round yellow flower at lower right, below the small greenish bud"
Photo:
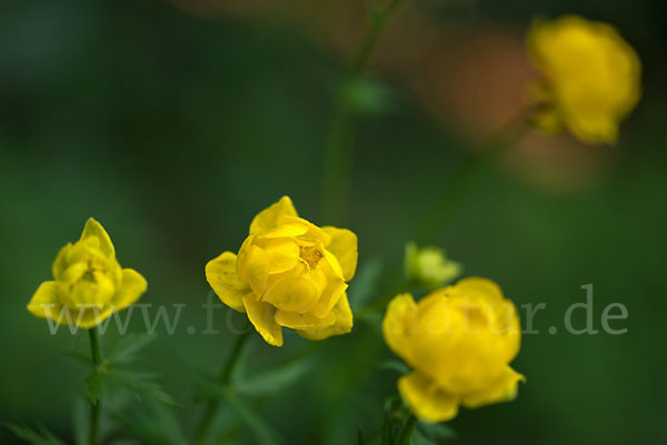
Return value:
[(496, 283), (466, 279), (415, 303), (397, 295), (382, 321), (389, 347), (412, 367), (398, 390), (415, 415), (427, 422), (516, 397), (524, 376), (509, 367), (520, 346), (514, 304)]

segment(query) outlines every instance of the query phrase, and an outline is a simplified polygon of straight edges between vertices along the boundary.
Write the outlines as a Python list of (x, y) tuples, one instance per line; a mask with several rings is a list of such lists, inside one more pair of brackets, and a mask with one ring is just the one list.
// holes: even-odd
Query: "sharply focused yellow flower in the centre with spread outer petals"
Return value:
[(356, 269), (357, 235), (318, 227), (282, 196), (255, 216), (238, 256), (211, 260), (206, 277), (222, 303), (246, 312), (267, 343), (281, 346), (282, 326), (309, 340), (351, 331), (346, 282)]

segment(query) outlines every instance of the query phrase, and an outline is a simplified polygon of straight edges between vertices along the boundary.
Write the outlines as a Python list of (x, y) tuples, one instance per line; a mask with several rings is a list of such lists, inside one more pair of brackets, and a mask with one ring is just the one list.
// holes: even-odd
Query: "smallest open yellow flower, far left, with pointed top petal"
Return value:
[(53, 280), (43, 282), (28, 304), (40, 318), (93, 327), (146, 292), (143, 276), (121, 269), (104, 227), (92, 218), (81, 239), (68, 243), (53, 262)]

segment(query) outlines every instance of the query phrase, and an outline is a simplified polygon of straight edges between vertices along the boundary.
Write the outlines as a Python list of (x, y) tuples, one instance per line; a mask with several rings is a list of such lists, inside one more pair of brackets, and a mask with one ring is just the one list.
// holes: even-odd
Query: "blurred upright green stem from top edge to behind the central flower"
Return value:
[(351, 192), (356, 125), (352, 110), (345, 98), (347, 87), (366, 71), (389, 18), (402, 1), (389, 0), (384, 7), (371, 11), (368, 29), (334, 99), (322, 172), (322, 221), (331, 224), (345, 223)]

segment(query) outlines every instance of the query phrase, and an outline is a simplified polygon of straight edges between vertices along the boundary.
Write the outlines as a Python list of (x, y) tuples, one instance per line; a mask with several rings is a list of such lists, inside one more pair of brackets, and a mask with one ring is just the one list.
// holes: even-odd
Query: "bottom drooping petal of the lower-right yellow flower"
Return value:
[(398, 391), (412, 413), (422, 421), (445, 422), (458, 414), (458, 398), (439, 390), (419, 372), (400, 377)]

